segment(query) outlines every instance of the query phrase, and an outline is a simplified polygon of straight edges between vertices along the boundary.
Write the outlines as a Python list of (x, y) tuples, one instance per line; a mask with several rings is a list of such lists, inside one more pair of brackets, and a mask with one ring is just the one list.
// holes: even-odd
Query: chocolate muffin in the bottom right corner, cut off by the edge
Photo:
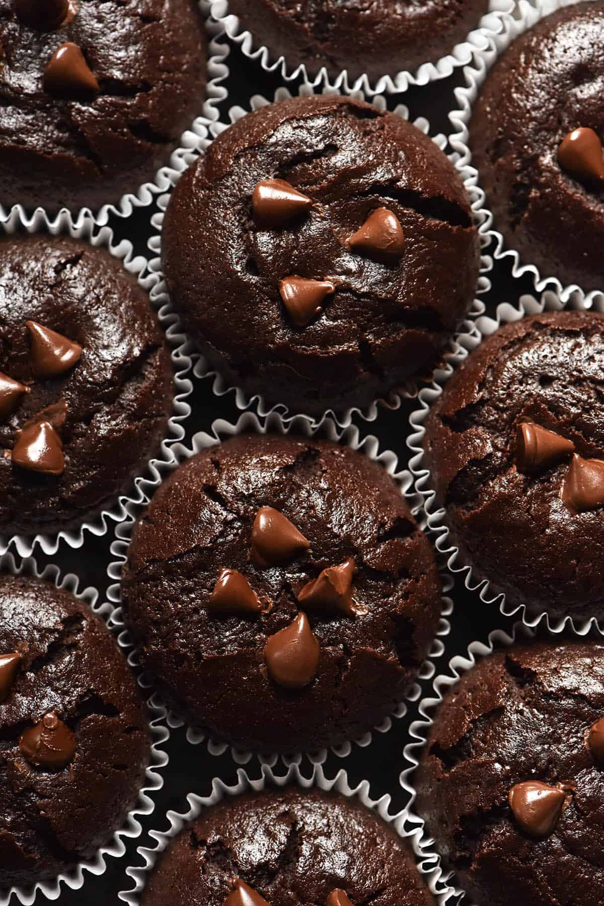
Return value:
[(417, 812), (476, 906), (604, 901), (604, 646), (513, 645), (436, 712)]

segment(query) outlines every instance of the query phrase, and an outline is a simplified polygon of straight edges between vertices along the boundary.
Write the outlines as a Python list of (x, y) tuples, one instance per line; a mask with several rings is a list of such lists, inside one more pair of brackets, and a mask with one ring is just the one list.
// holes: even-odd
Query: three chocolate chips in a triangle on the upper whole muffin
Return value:
[[(263, 179), (252, 194), (254, 220), (264, 229), (289, 226), (299, 217), (308, 215), (312, 207), (315, 207), (312, 198), (302, 195), (284, 179)], [(394, 264), (405, 250), (405, 236), (396, 214), (387, 207), (378, 207), (348, 238), (346, 245), (382, 264)], [(296, 327), (306, 327), (321, 314), (322, 303), (335, 292), (337, 285), (337, 278), (284, 277), (279, 292)]]

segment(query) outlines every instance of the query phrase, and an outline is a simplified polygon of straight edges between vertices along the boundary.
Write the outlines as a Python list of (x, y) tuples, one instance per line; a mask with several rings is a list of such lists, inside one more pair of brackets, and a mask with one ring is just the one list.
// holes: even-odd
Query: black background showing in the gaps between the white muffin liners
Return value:
[[(220, 109), (221, 120), (226, 121), (226, 111), (237, 103), (249, 109), (251, 95), (260, 93), (272, 99), (273, 93), (281, 83), (277, 77), (263, 72), (259, 65), (244, 58), (237, 48), (232, 48), (226, 61), (230, 67), (230, 77), (224, 82), (228, 98)], [(463, 83), (461, 71), (457, 70), (449, 79), (434, 82), (423, 88), (413, 88), (402, 94), (393, 95), (388, 99), (388, 107), (394, 108), (398, 103), (405, 103), (410, 111), (411, 120), (424, 116), (430, 122), (430, 131), (434, 135), (451, 131), (447, 114), (455, 110), (454, 89)], [(296, 92), (295, 82), (288, 85), (292, 93)], [(150, 217), (157, 210), (156, 207), (139, 209), (134, 214), (123, 220), (112, 217), (110, 226), (116, 238), (127, 238), (133, 243), (135, 252), (140, 255), (149, 255), (147, 240), (151, 233)], [(487, 250), (488, 251), (488, 250)], [(516, 304), (523, 293), (533, 293), (532, 281), (529, 277), (514, 279), (511, 265), (507, 262), (495, 262), (494, 270), (490, 275), (492, 290), (482, 296), (487, 307), (487, 313), (494, 314), (497, 304), (509, 302)], [(188, 445), (190, 438), (198, 430), (209, 431), (214, 419), (223, 418), (235, 421), (241, 414), (235, 407), (234, 394), (227, 394), (217, 399), (212, 394), (212, 379), (196, 381), (193, 394), (187, 400), (192, 407), (192, 414), (187, 420), (187, 436), (185, 443)], [(407, 465), (406, 439), (408, 434), (408, 416), (414, 409), (413, 404), (405, 401), (398, 411), (391, 412), (380, 409), (379, 418), (373, 422), (355, 419), (361, 435), (374, 434), (379, 439), (380, 449), (392, 449), (398, 455), (399, 466)], [(110, 532), (104, 538), (94, 538), (85, 535), (85, 543), (78, 551), (72, 551), (62, 545), (60, 551), (53, 557), (44, 557), (39, 549), (36, 557), (41, 565), (53, 562), (60, 566), (62, 572), (73, 572), (79, 575), (83, 585), (94, 585), (99, 589), (100, 600), (105, 600), (105, 593), (109, 584), (107, 565), (112, 559), (110, 543), (113, 540), (113, 524), (110, 523)], [(457, 581), (451, 593), (455, 602), (455, 610), (451, 617), (451, 633), (446, 641), (445, 654), (436, 660), (436, 673), (446, 672), (448, 661), (459, 653), (465, 653), (470, 641), (486, 641), (488, 633), (501, 627), (510, 631), (513, 622), (503, 617), (496, 605), (488, 606), (481, 602), (475, 593), (465, 590), (464, 584)], [(422, 696), (429, 694), (431, 681), (422, 684)], [(340, 768), (348, 772), (350, 786), (356, 786), (361, 780), (368, 779), (372, 798), (389, 794), (392, 798), (391, 810), (398, 811), (407, 805), (407, 795), (399, 785), (398, 776), (407, 763), (403, 757), (403, 749), (410, 741), (408, 727), (412, 720), (417, 718), (417, 708), (410, 708), (406, 718), (396, 720), (392, 729), (386, 734), (374, 734), (371, 745), (367, 748), (352, 747), (352, 752), (347, 758), (329, 755), (324, 770), (327, 776), (334, 776)], [(136, 841), (128, 842), (126, 855), (120, 859), (109, 859), (107, 871), (101, 878), (85, 874), (84, 886), (80, 891), (70, 891), (62, 887), (59, 902), (62, 906), (74, 906), (87, 902), (90, 906), (107, 906), (117, 904), (118, 892), (129, 890), (133, 886), (132, 880), (125, 874), (129, 865), (140, 865), (142, 860), (136, 853), (138, 845), (155, 845), (149, 839), (147, 832), (151, 829), (166, 830), (168, 809), (182, 812), (187, 809), (187, 793), (208, 795), (211, 791), (213, 777), (221, 777), (228, 784), (234, 784), (237, 765), (233, 761), (230, 751), (225, 755), (215, 757), (208, 754), (206, 746), (191, 746), (187, 743), (184, 729), (173, 730), (167, 746), (169, 764), (163, 770), (164, 786), (155, 794), (156, 808), (148, 818), (142, 819), (143, 833)], [(260, 766), (253, 758), (245, 770), (250, 776), (260, 776)], [(308, 759), (302, 762), (302, 773), (310, 775), (311, 765)], [(283, 774), (283, 764), (275, 766), (276, 773)], [(40, 898), (42, 901), (42, 898)], [(167, 904), (168, 906), (168, 904)]]

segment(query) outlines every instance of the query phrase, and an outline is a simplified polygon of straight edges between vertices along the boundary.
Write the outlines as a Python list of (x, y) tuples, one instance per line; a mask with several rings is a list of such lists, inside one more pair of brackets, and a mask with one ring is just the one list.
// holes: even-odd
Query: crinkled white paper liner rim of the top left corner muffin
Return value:
[[(202, 13), (207, 15), (209, 11), (208, 0), (200, 0)], [(228, 78), (229, 69), (226, 64), (226, 58), (229, 54), (229, 47), (226, 42), (220, 42), (218, 39), (223, 34), (221, 25), (217, 25), (211, 19), (206, 21), (206, 32), (208, 33), (208, 57), (207, 57), (207, 87), (206, 101), (204, 101), (202, 112), (191, 123), (189, 129), (185, 130), (178, 140), (178, 147), (170, 154), (168, 163), (160, 167), (151, 182), (145, 182), (137, 188), (136, 192), (127, 192), (122, 195), (120, 201), (115, 204), (105, 204), (97, 212), (91, 211), (90, 207), (81, 207), (79, 211), (73, 211), (72, 217), (74, 223), (80, 225), (85, 218), (92, 217), (94, 222), (99, 226), (105, 226), (111, 215), (115, 217), (130, 217), (132, 212), (138, 207), (149, 207), (152, 205), (160, 192), (166, 192), (170, 188), (172, 175), (175, 171), (181, 173), (187, 169), (191, 159), (191, 154), (199, 149), (200, 142), (206, 138), (207, 126), (212, 120), (217, 120), (219, 116), (219, 105), (225, 101), (228, 92), (222, 82)], [(36, 212), (42, 208), (36, 208)], [(62, 214), (66, 208), (59, 212)], [(0, 223), (10, 217), (10, 211), (0, 204)]]

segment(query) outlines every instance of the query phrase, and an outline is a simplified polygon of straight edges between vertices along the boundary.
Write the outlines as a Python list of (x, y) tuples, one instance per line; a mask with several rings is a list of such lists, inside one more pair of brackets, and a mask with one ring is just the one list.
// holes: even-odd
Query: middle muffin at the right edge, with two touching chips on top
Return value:
[(532, 612), (604, 615), (604, 316), (506, 324), (447, 381), (426, 464), (451, 541)]

